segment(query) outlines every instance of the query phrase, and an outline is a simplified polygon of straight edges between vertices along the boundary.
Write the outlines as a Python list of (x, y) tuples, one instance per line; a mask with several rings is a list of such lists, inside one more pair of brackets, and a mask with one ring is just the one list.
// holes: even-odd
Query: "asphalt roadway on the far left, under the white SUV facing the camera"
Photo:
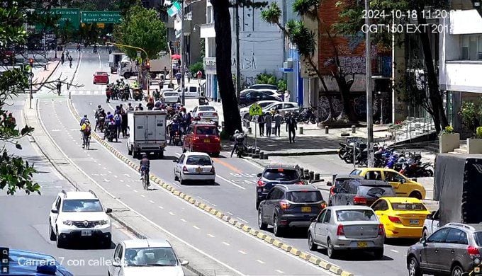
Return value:
[[(24, 125), (21, 110), (25, 99), (25, 96), (16, 98), (9, 106), (18, 125)], [(21, 190), (12, 196), (0, 191), (0, 246), (52, 255), (74, 275), (106, 275), (108, 268), (105, 261), (111, 260), (115, 244), (134, 236), (114, 222), (111, 249), (97, 249), (92, 244), (57, 248), (55, 241), (50, 241), (48, 236), (50, 208), (60, 190), (74, 190), (74, 187), (55, 171), (35, 144), (27, 138), (21, 139), (20, 144), (23, 147), (21, 151), (15, 150), (11, 144), (6, 144), (6, 148), (29, 163), (35, 163), (38, 173), (34, 175), (34, 180), (41, 186), (41, 195), (26, 195)]]

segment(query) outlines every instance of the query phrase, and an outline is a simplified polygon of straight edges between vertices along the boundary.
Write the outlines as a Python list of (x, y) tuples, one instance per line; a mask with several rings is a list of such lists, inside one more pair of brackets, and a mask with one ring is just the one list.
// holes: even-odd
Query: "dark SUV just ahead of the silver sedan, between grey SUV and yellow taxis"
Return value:
[(336, 205), (371, 206), (380, 197), (396, 197), (390, 183), (383, 180), (348, 179), (334, 189), (330, 203)]

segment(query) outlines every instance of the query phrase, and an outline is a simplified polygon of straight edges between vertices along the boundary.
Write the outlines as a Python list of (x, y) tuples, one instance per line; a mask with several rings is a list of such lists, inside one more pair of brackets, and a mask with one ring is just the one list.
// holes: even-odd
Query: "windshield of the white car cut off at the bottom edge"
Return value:
[(176, 266), (176, 254), (170, 247), (126, 248), (127, 266)]

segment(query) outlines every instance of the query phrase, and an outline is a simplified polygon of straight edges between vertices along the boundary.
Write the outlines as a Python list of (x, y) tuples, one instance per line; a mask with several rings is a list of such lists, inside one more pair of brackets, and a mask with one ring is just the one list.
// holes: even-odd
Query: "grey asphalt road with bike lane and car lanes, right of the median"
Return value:
[[(72, 93), (74, 108), (77, 109), (79, 114), (87, 114), (91, 119), (93, 119), (94, 109), (97, 105), (101, 104), (106, 110), (113, 110), (116, 104), (120, 103), (111, 100), (111, 104), (106, 105), (105, 96), (103, 96), (105, 86), (92, 84), (94, 71), (109, 71), (107, 63), (108, 56), (106, 53), (84, 53), (79, 73), (75, 78), (76, 81), (74, 81), (74, 83), (85, 85), (83, 88), (74, 89)], [(111, 81), (115, 79), (116, 75), (111, 75)], [(267, 252), (275, 251), (267, 248), (267, 245), (257, 244), (250, 241), (249, 238), (234, 240), (233, 236), (238, 235), (236, 231), (215, 222), (215, 219), (213, 222), (213, 219), (199, 217), (189, 207), (185, 207), (166, 196), (162, 190), (142, 191), (135, 173), (126, 166), (120, 166), (120, 163), (114, 160), (115, 157), (106, 153), (106, 151), (101, 149), (101, 146), (93, 144), (91, 145), (92, 150), (88, 153), (82, 151), (79, 144), (78, 123), (73, 120), (67, 106), (64, 102), (52, 101), (47, 98), (50, 97), (40, 101), (40, 108), (45, 111), (42, 112), (42, 118), (47, 129), (51, 130), (51, 134), (55, 137), (56, 142), (60, 144), (69, 156), (74, 157), (74, 161), (79, 166), (88, 170), (91, 176), (96, 178), (101, 185), (105, 188), (113, 189), (113, 192), (117, 193), (130, 206), (138, 207), (138, 211), (142, 214), (155, 217), (155, 220), (163, 226), (169, 225), (169, 227), (174, 227), (176, 233), (179, 232), (182, 236), (194, 238), (193, 244), (196, 244), (199, 248), (209, 248), (211, 253), (215, 251), (216, 256), (220, 255), (220, 260), (224, 260), (225, 263), (240, 270), (240, 272), (250, 275), (253, 273), (263, 275), (263, 273), (271, 274), (274, 272), (278, 274), (279, 272), (276, 270), (281, 270), (288, 275), (301, 275), (312, 272), (310, 265), (304, 265), (298, 261), (293, 263), (291, 258), (284, 258), (284, 256), (279, 258), (286, 259), (286, 262), (281, 262), (279, 258), (274, 258), (272, 253), (267, 254)], [(125, 156), (128, 156), (125, 139), (120, 139), (119, 141), (118, 143), (112, 143), (112, 145)], [(180, 154), (180, 147), (168, 146), (164, 159), (151, 161), (151, 172), (168, 183), (172, 183), (186, 194), (195, 196), (203, 200), (203, 202), (231, 214), (232, 217), (237, 217), (240, 221), (247, 222), (250, 226), (257, 228), (257, 211), (254, 208), (254, 187), (257, 180), (256, 174), (262, 170), (260, 166), (245, 159), (225, 158), (229, 154), (223, 152), (220, 158), (215, 159), (217, 173), (215, 185), (179, 185), (179, 183), (174, 182), (172, 159), (180, 156)], [(343, 161), (340, 161), (337, 156), (326, 156), (320, 162), (327, 163), (327, 166), (333, 170), (332, 173), (349, 172), (345, 168), (347, 164), (341, 163)], [(323, 197), (327, 199), (326, 191), (323, 191)], [(168, 208), (172, 208), (172, 211), (167, 211)], [(159, 211), (159, 209), (164, 210), (164, 212), (159, 214), (159, 212), (155, 211)], [(165, 216), (165, 213), (169, 214), (169, 216)], [(191, 224), (191, 226), (184, 226), (186, 223)], [(179, 226), (179, 228), (176, 228), (176, 226)], [(198, 228), (207, 229), (209, 232), (207, 237), (206, 234), (199, 236), (198, 231), (200, 229)], [(193, 229), (198, 231), (193, 231)], [(270, 231), (269, 229), (268, 232), (271, 234)], [(225, 243), (228, 243), (230, 247), (219, 248), (214, 246), (209, 238), (211, 236), (216, 236), (217, 238), (222, 236), (223, 246), (227, 246)], [(293, 234), (282, 238), (282, 240), (303, 251), (308, 251), (306, 231), (304, 230), (294, 231)], [(347, 254), (342, 256), (340, 260), (329, 260), (323, 250), (315, 252), (315, 255), (340, 265), (344, 270), (354, 272), (357, 275), (381, 275), (388, 271), (390, 272), (389, 275), (406, 275), (405, 253), (407, 246), (413, 243), (413, 241), (390, 241), (389, 243), (385, 247), (383, 260), (374, 260), (369, 254), (361, 255), (358, 253)], [(245, 255), (239, 251), (250, 253)], [(255, 256), (252, 257), (251, 253)], [(247, 257), (247, 255), (250, 256)], [(257, 260), (262, 260), (263, 263), (259, 263)], [(274, 260), (276, 260), (275, 263), (278, 265), (273, 263)], [(279, 268), (279, 265), (283, 265), (284, 268)], [(293, 268), (296, 269), (291, 270)], [(303, 272), (301, 268), (307, 269), (307, 271)], [(293, 273), (289, 273), (290, 271)]]

